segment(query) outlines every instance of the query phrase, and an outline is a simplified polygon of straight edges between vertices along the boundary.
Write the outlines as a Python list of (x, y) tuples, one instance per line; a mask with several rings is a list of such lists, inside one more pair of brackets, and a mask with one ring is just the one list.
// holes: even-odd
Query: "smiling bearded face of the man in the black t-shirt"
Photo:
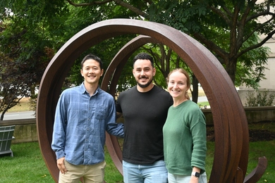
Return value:
[(134, 63), (133, 75), (138, 87), (142, 89), (151, 89), (153, 77), (156, 73), (155, 68), (149, 60), (138, 59)]

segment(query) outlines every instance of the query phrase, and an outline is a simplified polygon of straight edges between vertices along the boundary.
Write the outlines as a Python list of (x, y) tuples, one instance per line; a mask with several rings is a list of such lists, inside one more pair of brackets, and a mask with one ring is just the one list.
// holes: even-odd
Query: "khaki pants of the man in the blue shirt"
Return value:
[(59, 172), (59, 183), (79, 183), (83, 177), (83, 183), (102, 183), (104, 182), (104, 168), (106, 162), (95, 165), (73, 165), (65, 160), (65, 167), (68, 172)]

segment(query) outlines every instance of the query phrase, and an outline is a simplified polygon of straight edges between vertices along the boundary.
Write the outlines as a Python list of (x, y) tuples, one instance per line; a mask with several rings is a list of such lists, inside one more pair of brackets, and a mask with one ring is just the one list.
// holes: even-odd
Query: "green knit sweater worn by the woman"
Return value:
[(191, 175), (193, 167), (205, 172), (206, 122), (197, 103), (184, 101), (171, 106), (164, 132), (164, 160), (169, 173)]

